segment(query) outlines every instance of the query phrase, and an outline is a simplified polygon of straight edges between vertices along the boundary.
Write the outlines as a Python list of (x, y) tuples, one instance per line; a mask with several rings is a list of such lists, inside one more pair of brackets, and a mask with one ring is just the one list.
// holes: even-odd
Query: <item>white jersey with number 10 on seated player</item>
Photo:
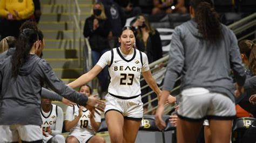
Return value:
[[(79, 107), (80, 107), (79, 105), (73, 105), (73, 119), (78, 117)], [(68, 108), (71, 108), (71, 107), (68, 107)], [(100, 119), (101, 117), (97, 113), (95, 113), (95, 121), (100, 122)], [(79, 119), (77, 125), (71, 129), (70, 134), (76, 133), (76, 132), (79, 132), (82, 134), (86, 134), (86, 133), (95, 134), (91, 126), (90, 111), (87, 110), (86, 108), (84, 108), (83, 115)]]

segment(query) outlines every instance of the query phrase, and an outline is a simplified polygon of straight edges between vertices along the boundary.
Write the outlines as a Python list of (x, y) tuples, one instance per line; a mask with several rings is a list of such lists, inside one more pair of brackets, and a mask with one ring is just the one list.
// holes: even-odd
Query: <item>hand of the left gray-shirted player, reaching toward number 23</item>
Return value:
[[(96, 108), (99, 111), (104, 112), (105, 109), (105, 102), (101, 101), (100, 99), (98, 99), (96, 97), (97, 95), (92, 95), (90, 97), (88, 97), (88, 101), (86, 103), (86, 106), (89, 105), (90, 108)], [(87, 108), (87, 107), (86, 107)]]

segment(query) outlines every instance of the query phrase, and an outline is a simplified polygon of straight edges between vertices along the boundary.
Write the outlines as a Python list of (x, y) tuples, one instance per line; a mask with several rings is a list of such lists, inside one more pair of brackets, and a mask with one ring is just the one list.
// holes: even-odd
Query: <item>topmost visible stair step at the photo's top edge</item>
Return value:
[[(90, 0), (77, 0), (78, 4), (92, 4)], [(40, 0), (41, 4), (73, 4), (74, 1), (70, 0)]]

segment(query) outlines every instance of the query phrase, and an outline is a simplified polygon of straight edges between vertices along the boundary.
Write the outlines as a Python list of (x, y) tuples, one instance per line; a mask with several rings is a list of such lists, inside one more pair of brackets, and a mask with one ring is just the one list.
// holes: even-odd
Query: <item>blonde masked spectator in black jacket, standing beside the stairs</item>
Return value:
[[(95, 66), (100, 56), (106, 51), (110, 50), (109, 35), (111, 23), (106, 18), (104, 6), (102, 3), (97, 2), (93, 4), (92, 15), (85, 20), (84, 24), (84, 37), (89, 37), (89, 42), (92, 50), (92, 66)], [(105, 99), (107, 92), (107, 85), (109, 84), (109, 72), (105, 67), (100, 74), (98, 74), (100, 89), (99, 95)]]

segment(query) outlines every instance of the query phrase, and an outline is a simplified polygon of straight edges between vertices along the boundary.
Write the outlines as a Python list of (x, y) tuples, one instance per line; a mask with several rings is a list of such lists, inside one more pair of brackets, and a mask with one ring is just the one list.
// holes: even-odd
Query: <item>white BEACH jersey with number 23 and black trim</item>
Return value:
[(127, 60), (119, 48), (113, 48), (111, 56), (109, 93), (124, 97), (140, 95), (139, 80), (143, 67), (142, 53), (138, 49), (134, 49), (132, 58)]

